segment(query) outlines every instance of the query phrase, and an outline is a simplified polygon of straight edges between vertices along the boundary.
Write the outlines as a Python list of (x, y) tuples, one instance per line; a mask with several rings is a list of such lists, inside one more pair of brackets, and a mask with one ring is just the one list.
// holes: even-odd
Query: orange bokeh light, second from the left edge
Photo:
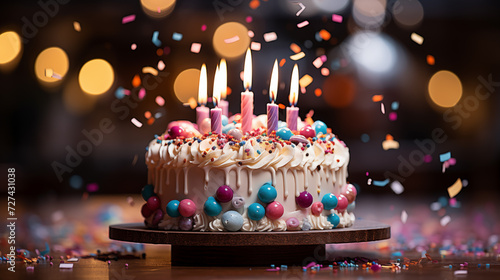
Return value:
[[(44, 85), (57, 85), (66, 75), (69, 59), (66, 52), (58, 47), (43, 50), (35, 61), (36, 77)], [(53, 75), (47, 75), (47, 73)]]

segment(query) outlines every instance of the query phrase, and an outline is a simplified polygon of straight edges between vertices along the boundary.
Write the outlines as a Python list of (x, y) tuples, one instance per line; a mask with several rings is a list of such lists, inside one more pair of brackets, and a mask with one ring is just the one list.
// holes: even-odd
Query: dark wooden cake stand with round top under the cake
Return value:
[(283, 232), (164, 231), (142, 223), (109, 227), (109, 238), (114, 240), (172, 245), (176, 266), (306, 265), (326, 260), (325, 244), (390, 237), (390, 226), (369, 220), (356, 220), (348, 228)]

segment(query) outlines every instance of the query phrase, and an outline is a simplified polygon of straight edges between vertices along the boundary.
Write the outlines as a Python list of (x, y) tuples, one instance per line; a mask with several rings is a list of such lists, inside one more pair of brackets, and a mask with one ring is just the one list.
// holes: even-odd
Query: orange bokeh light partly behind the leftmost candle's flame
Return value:
[(200, 69), (189, 68), (182, 71), (174, 82), (174, 92), (182, 103), (188, 103), (190, 98), (198, 99), (198, 84)]

